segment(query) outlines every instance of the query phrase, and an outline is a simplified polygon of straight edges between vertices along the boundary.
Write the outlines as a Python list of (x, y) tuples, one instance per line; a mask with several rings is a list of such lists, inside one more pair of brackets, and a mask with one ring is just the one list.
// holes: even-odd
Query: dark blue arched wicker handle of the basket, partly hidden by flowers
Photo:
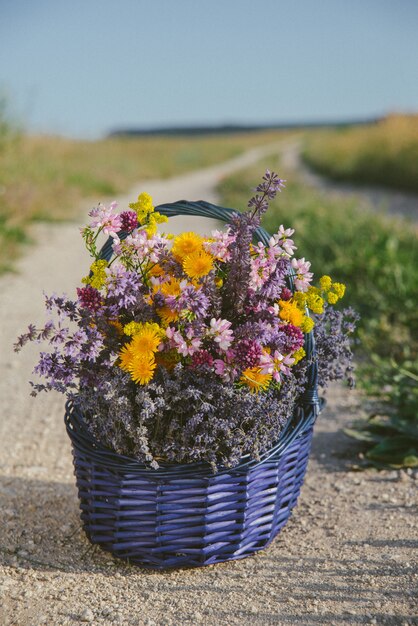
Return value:
[[(199, 200), (197, 202), (190, 202), (188, 200), (178, 200), (177, 202), (170, 202), (166, 204), (160, 204), (155, 207), (155, 210), (167, 217), (177, 217), (179, 215), (193, 215), (197, 217), (209, 217), (212, 219), (218, 219), (223, 222), (231, 221), (234, 215), (238, 215), (239, 212), (235, 209), (228, 209), (225, 207)], [(269, 233), (263, 228), (259, 227), (255, 231), (255, 238), (257, 241), (268, 245), (270, 240)], [(120, 239), (125, 239), (128, 233), (118, 233)], [(103, 248), (100, 250), (100, 258), (110, 261), (112, 257), (112, 245), (113, 239), (109, 237)], [(318, 396), (318, 365), (315, 358), (315, 339), (313, 332), (311, 331), (305, 335), (305, 352), (308, 360), (307, 371), (307, 385), (305, 392), (301, 398), (301, 404), (306, 409), (311, 409), (315, 417), (319, 414), (321, 408), (321, 402)]]

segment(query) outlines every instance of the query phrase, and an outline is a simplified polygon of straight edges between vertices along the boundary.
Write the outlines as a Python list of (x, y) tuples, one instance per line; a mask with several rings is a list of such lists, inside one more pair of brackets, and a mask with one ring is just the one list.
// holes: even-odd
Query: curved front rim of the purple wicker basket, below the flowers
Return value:
[(213, 472), (209, 463), (203, 461), (194, 463), (161, 462), (159, 463), (159, 468), (154, 469), (134, 457), (113, 452), (90, 434), (84, 421), (83, 413), (77, 406), (75, 400), (68, 400), (66, 402), (64, 421), (68, 436), (74, 448), (81, 454), (88, 456), (93, 462), (109, 470), (125, 472), (126, 474), (133, 474), (135, 476), (142, 475), (147, 478), (161, 478), (163, 476), (213, 477), (233, 472), (245, 473), (249, 468), (262, 465), (273, 456), (277, 457), (278, 454), (283, 453), (289, 448), (299, 436), (303, 436), (307, 431), (313, 428), (315, 420), (324, 404), (325, 401), (322, 399), (318, 406), (297, 406), (292, 416), (286, 422), (276, 443), (269, 450), (261, 454), (258, 460), (252, 459), (250, 455), (247, 454), (241, 458), (238, 465), (233, 467), (218, 465), (216, 473)]

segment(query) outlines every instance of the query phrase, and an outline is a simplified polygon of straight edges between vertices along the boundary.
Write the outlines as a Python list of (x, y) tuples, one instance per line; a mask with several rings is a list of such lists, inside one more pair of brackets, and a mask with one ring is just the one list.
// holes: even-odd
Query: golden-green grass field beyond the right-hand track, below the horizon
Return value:
[(305, 162), (330, 178), (418, 192), (418, 115), (308, 135)]

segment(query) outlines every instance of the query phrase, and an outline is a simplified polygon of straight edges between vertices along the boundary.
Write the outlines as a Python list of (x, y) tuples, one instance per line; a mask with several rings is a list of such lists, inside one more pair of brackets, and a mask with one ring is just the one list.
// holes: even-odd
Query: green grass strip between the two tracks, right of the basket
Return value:
[(364, 443), (367, 463), (418, 467), (418, 237), (404, 222), (360, 211), (307, 187), (280, 162), (269, 161), (225, 179), (224, 206), (244, 207), (265, 167), (288, 178), (265, 227), (296, 229), (299, 253), (317, 276), (347, 284), (346, 305), (361, 314), (358, 385), (373, 400), (370, 419), (350, 431)]

